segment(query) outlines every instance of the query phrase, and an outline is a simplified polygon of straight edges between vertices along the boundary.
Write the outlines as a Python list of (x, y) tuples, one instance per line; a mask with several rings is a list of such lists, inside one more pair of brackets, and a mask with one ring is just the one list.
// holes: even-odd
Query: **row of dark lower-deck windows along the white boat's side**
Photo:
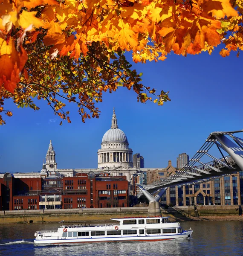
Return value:
[[(178, 233), (182, 233), (182, 229), (177, 229)], [(140, 229), (139, 234), (144, 235), (145, 230)], [(161, 229), (147, 229), (147, 234), (161, 234)], [(137, 230), (107, 230), (106, 235), (107, 236), (120, 236), (123, 235), (136, 235)], [(176, 228), (163, 228), (162, 234), (176, 234)], [(84, 232), (64, 232), (63, 237), (80, 237), (80, 236), (89, 236), (89, 231)], [(90, 236), (105, 236), (105, 231), (90, 231)]]

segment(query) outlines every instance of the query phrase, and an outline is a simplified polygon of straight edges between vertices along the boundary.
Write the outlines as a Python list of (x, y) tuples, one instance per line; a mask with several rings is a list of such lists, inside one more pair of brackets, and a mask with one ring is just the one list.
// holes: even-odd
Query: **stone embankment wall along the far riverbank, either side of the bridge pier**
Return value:
[[(211, 206), (181, 206), (161, 208), (162, 216), (172, 218), (208, 216), (239, 216), (243, 205), (211, 205)], [(124, 208), (83, 208), (83, 209), (48, 209), (48, 210), (17, 210), (0, 211), (0, 224), (13, 223), (47, 223), (47, 222), (112, 222), (110, 218), (147, 216), (148, 207)], [(242, 217), (242, 216), (240, 216)]]

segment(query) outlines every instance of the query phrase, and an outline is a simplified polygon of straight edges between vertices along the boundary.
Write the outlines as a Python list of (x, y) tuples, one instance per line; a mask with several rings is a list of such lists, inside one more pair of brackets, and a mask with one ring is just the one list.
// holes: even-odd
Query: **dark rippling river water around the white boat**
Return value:
[(243, 221), (184, 221), (194, 230), (190, 239), (154, 242), (103, 242), (36, 246), (36, 230), (60, 224), (0, 225), (0, 255), (4, 256), (243, 256)]

